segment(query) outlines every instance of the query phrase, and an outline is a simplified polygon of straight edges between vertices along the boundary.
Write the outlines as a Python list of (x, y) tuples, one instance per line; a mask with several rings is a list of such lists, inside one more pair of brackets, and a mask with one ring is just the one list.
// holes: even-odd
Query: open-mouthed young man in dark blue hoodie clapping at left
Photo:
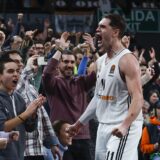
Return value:
[(15, 92), (19, 80), (17, 64), (3, 54), (0, 58), (0, 130), (19, 131), (17, 142), (7, 144), (6, 149), (0, 150), (0, 159), (23, 160), (25, 131), (32, 132), (37, 126), (37, 108), (44, 102), (39, 96), (26, 108), (23, 98)]

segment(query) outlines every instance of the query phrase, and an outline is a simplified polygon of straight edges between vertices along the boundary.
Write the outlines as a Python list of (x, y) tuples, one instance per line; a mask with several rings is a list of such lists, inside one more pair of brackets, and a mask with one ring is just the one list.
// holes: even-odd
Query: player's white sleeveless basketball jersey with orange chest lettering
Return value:
[[(100, 123), (121, 123), (128, 114), (130, 96), (119, 70), (119, 60), (125, 54), (131, 52), (124, 49), (108, 62), (105, 54), (97, 61), (95, 96), (97, 97), (96, 116)], [(142, 119), (142, 114), (138, 117)]]

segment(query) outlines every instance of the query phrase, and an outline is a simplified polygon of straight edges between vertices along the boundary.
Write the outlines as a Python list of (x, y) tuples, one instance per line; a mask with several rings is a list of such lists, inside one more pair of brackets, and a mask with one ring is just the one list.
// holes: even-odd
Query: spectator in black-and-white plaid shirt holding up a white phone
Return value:
[[(5, 54), (8, 54), (8, 56), (17, 64), (19, 64), (18, 62), (22, 59), (18, 51), (8, 51)], [(30, 57), (27, 61), (27, 65), (23, 70), (22, 65), (19, 65), (19, 69), (22, 70), (22, 73), (20, 75), (16, 91), (22, 95), (26, 104), (31, 103), (38, 97), (38, 92), (30, 83), (30, 79), (32, 78), (34, 73), (36, 73), (38, 68), (38, 66), (34, 64), (34, 60), (36, 60), (37, 57), (38, 55)], [(25, 160), (40, 160), (44, 158), (45, 148), (43, 146), (43, 141), (45, 140), (45, 138), (49, 139), (50, 148), (53, 152), (55, 152), (55, 150), (58, 150), (58, 148), (56, 147), (58, 143), (57, 138), (54, 134), (51, 122), (43, 106), (37, 110), (37, 118), (37, 129), (31, 133), (26, 133), (24, 153)]]

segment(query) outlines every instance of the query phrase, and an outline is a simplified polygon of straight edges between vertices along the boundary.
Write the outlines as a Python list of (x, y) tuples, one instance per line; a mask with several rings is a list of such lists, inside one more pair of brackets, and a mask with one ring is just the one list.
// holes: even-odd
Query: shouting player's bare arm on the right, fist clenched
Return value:
[(142, 85), (140, 78), (140, 68), (137, 59), (132, 54), (126, 54), (120, 60), (120, 71), (125, 78), (125, 82), (131, 96), (129, 112), (122, 124), (113, 130), (113, 135), (122, 137), (126, 135), (129, 126), (137, 118), (143, 105)]

